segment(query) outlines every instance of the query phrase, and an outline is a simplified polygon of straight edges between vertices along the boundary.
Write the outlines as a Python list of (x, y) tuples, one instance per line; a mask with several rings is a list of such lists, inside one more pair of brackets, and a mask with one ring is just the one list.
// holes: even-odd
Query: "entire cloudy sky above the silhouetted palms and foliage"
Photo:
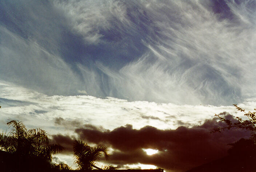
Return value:
[[(1, 0), (0, 129), (108, 146), (101, 164), (185, 171), (248, 133), (215, 114), (256, 107), (255, 0)], [(148, 149), (155, 154), (148, 155)], [(147, 154), (148, 153), (148, 154)]]

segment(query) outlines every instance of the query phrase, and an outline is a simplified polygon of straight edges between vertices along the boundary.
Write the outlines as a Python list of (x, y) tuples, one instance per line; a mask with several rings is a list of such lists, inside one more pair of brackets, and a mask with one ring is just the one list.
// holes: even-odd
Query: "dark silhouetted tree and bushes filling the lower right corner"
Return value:
[[(236, 117), (237, 121), (232, 122), (229, 119), (225, 119), (220, 115), (215, 114), (221, 121), (226, 123), (226, 127), (217, 127), (211, 132), (222, 132), (226, 129), (245, 129), (250, 131), (251, 137), (249, 139), (241, 138), (235, 143), (228, 144), (231, 148), (228, 150), (228, 156), (220, 160), (216, 160), (218, 163), (218, 168), (213, 167), (210, 163), (201, 165), (201, 167), (195, 168), (196, 171), (203, 168), (211, 168), (213, 171), (255, 171), (256, 167), (254, 165), (256, 160), (256, 112), (245, 112), (236, 104), (233, 104), (236, 109), (240, 112), (244, 112), (244, 116), (248, 119), (244, 120), (240, 117)], [(256, 109), (254, 109), (256, 111)], [(212, 163), (214, 164), (214, 163)], [(193, 170), (192, 170), (193, 171)]]

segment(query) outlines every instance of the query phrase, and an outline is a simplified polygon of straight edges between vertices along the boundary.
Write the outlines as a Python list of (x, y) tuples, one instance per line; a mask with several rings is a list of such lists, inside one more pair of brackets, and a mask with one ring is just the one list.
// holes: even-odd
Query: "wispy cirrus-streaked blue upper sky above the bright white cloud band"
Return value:
[(229, 105), (254, 93), (253, 1), (3, 4), (4, 81), (47, 95), (180, 105)]

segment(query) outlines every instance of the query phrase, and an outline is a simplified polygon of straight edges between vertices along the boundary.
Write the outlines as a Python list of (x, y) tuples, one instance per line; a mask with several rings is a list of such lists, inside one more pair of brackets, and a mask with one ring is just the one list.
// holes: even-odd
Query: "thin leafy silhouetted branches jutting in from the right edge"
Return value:
[[(237, 122), (233, 123), (229, 119), (224, 119), (220, 115), (215, 114), (218, 118), (220, 118), (221, 121), (224, 121), (227, 124), (227, 127), (218, 127), (213, 129), (212, 132), (221, 132), (225, 129), (231, 129), (231, 128), (237, 128), (237, 129), (245, 129), (251, 132), (251, 139), (253, 142), (256, 142), (256, 112), (248, 112), (246, 113), (244, 109), (239, 108), (236, 104), (233, 104), (236, 109), (240, 112), (244, 112), (244, 116), (246, 116), (248, 119), (243, 120), (240, 117), (236, 117)], [(256, 109), (254, 109), (256, 111)]]

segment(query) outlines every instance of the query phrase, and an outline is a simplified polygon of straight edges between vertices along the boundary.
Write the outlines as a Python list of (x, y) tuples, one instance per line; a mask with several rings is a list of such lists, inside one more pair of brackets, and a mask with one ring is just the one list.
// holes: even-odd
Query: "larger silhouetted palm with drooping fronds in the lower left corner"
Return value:
[(9, 133), (0, 134), (0, 150), (7, 151), (15, 157), (16, 168), (34, 166), (50, 167), (52, 156), (64, 148), (59, 144), (49, 144), (48, 134), (41, 129), (27, 130), (17, 120), (7, 122), (12, 127)]

